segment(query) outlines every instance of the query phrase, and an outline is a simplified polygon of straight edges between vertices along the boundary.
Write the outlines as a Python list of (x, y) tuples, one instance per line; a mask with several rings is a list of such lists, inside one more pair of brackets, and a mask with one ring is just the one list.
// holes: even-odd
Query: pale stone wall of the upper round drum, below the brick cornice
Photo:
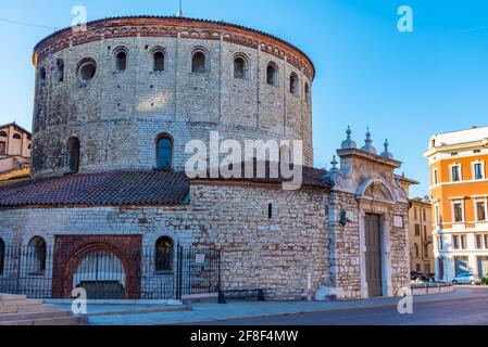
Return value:
[[(127, 69), (115, 70), (114, 51), (124, 47)], [(209, 70), (191, 73), (196, 48), (208, 53)], [(165, 69), (152, 70), (152, 52), (163, 49)], [(234, 56), (246, 54), (250, 79), (234, 78)], [(97, 63), (92, 80), (80, 85), (83, 59)], [(57, 62), (64, 62), (64, 80)], [(279, 67), (278, 87), (266, 83), (266, 67)], [(39, 72), (46, 69), (46, 82)], [(290, 93), (291, 73), (300, 93)], [(285, 59), (221, 39), (177, 37), (112, 37), (70, 46), (42, 56), (37, 64), (33, 136), (35, 177), (55, 176), (66, 166), (67, 140), (80, 140), (80, 171), (151, 169), (159, 133), (175, 139), (174, 167), (183, 168), (191, 139), (209, 140), (210, 131), (236, 140), (303, 140), (304, 164), (312, 166), (311, 100), (304, 86), (312, 81)], [(311, 97), (310, 97), (311, 98)]]

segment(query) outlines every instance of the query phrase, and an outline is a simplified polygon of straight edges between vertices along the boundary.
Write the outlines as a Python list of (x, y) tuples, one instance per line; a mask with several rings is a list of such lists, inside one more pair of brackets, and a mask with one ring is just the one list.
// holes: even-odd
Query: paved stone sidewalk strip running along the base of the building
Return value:
[[(449, 294), (415, 296), (414, 306), (422, 303), (462, 300), (477, 297), (488, 297), (488, 287), (456, 287)], [(196, 322), (209, 322), (239, 318), (252, 318), (264, 316), (283, 316), (308, 313), (317, 311), (334, 311), (358, 308), (390, 307), (397, 310), (400, 298), (374, 298), (355, 301), (328, 301), (328, 303), (230, 303), (227, 305), (218, 304), (192, 304), (185, 306), (187, 310), (148, 312), (148, 313), (127, 313), (108, 316), (92, 316), (89, 318), (89, 324), (92, 325), (166, 325), (166, 324), (191, 324)], [(109, 309), (109, 308), (108, 308)], [(113, 306), (111, 310), (115, 310)], [(148, 306), (120, 305), (116, 309), (121, 311), (138, 311), (148, 309)], [(155, 309), (155, 307), (151, 307)], [(102, 312), (103, 306), (96, 308), (88, 307), (88, 313)]]

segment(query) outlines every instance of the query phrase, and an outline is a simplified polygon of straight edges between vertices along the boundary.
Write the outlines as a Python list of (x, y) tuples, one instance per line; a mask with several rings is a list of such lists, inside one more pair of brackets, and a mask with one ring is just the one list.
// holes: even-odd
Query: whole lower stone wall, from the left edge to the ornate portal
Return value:
[(0, 210), (0, 237), (26, 245), (39, 235), (52, 246), (55, 235), (142, 235), (142, 252), (163, 235), (183, 246), (216, 245), (225, 288), (260, 287), (270, 298), (296, 299), (306, 296), (309, 273), (312, 294), (328, 273), (326, 215), (322, 191), (192, 185), (188, 206)]

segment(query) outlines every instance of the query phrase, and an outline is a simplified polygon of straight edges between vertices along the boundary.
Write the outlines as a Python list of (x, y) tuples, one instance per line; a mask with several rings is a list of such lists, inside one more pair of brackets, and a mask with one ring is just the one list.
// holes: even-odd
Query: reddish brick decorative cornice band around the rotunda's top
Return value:
[(173, 37), (233, 42), (275, 55), (303, 72), (313, 80), (315, 67), (297, 47), (272, 35), (225, 22), (164, 16), (127, 16), (87, 23), (87, 30), (76, 34), (72, 28), (59, 30), (36, 44), (33, 62), (72, 46), (121, 37)]

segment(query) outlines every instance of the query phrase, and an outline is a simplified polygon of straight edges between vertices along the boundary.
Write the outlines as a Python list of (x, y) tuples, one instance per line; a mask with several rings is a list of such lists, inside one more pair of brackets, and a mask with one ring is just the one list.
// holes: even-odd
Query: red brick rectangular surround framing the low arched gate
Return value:
[(121, 260), (125, 277), (125, 297), (140, 298), (142, 237), (140, 235), (57, 235), (52, 272), (52, 296), (71, 298), (73, 277), (90, 253), (104, 250)]

